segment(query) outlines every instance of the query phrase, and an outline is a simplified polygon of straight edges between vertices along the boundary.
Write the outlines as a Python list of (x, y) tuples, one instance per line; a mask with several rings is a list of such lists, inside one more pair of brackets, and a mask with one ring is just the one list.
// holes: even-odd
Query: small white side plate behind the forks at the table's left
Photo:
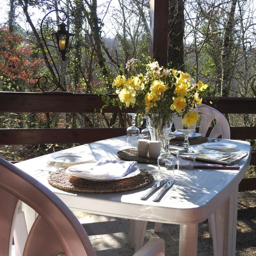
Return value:
[(63, 163), (62, 166), (70, 166), (74, 164), (82, 164), (87, 162), (95, 162), (94, 157), (90, 155), (81, 156), (75, 153), (59, 153), (52, 155), (50, 161)]

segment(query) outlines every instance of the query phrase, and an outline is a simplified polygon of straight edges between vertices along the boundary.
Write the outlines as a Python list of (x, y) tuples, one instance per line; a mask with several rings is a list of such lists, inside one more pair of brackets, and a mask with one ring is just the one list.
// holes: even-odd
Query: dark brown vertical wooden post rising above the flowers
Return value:
[(160, 66), (167, 65), (169, 0), (150, 0), (149, 54)]

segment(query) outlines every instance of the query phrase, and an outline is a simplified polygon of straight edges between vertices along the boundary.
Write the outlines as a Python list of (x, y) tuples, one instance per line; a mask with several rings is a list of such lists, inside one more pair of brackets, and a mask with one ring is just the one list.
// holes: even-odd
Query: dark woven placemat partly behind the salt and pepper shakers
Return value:
[(118, 151), (117, 156), (125, 161), (137, 161), (143, 164), (157, 164), (157, 159), (138, 156), (137, 148), (126, 148)]

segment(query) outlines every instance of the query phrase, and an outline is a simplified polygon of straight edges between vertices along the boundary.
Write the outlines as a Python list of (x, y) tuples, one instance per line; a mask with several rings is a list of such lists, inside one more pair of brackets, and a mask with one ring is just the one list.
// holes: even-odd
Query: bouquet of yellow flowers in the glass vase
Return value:
[(159, 67), (157, 61), (146, 65), (145, 74), (134, 73), (138, 60), (126, 63), (129, 76), (118, 75), (113, 88), (118, 94), (119, 105), (135, 107), (137, 113), (179, 114), (181, 123), (190, 126), (197, 122), (197, 111), (192, 109), (202, 103), (202, 94), (208, 85), (195, 80), (187, 73)]

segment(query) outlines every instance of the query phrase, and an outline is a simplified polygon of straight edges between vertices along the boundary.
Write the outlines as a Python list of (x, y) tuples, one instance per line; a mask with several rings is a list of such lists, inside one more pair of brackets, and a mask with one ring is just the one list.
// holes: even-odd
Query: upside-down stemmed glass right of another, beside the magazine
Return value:
[(177, 153), (178, 170), (182, 168), (193, 169), (196, 161), (196, 153), (189, 148), (189, 133), (195, 132), (195, 129), (178, 129), (177, 131), (184, 134), (183, 149)]

